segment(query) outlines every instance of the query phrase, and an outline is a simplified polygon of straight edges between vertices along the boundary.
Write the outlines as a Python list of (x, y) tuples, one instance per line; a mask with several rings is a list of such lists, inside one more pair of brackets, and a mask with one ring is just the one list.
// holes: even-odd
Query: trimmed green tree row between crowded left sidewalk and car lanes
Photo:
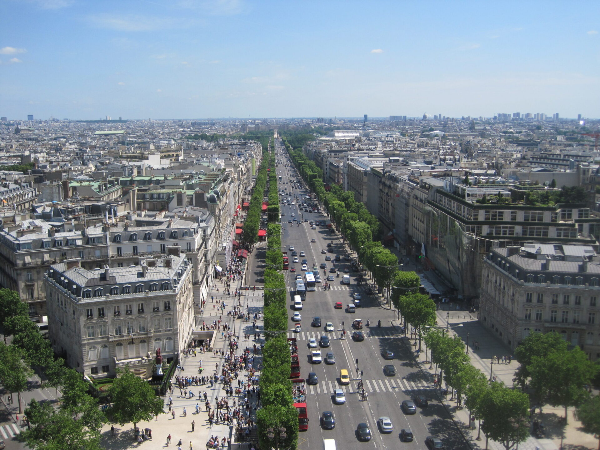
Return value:
[[(274, 159), (273, 159), (274, 161)], [(277, 198), (277, 178), (271, 166), (269, 178), (269, 202)], [(278, 213), (277, 213), (278, 214)], [(271, 218), (269, 217), (269, 220)], [(267, 225), (267, 245), (265, 256), (265, 304), (263, 310), (264, 329), (267, 337), (263, 349), (263, 367), (260, 372), (260, 401), (257, 410), (260, 448), (272, 448), (272, 440), (277, 434), (278, 448), (296, 449), (298, 443), (298, 412), (293, 406), (292, 382), (290, 382), (290, 347), (286, 339), (287, 308), (286, 283), (281, 252), (281, 225), (270, 221)], [(286, 429), (286, 437), (281, 438), (278, 428)], [(269, 436), (269, 428), (272, 434)]]

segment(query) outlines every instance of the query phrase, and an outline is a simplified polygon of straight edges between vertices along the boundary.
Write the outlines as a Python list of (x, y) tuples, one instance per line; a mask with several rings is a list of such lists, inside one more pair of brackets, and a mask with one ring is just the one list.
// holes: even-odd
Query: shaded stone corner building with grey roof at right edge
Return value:
[(592, 246), (493, 248), (482, 264), (479, 321), (512, 349), (556, 331), (600, 358), (600, 258)]

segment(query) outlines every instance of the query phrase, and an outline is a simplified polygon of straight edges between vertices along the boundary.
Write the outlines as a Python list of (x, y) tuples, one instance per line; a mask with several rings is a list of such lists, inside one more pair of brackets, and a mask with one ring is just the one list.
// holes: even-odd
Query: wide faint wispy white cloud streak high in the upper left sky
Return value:
[(117, 31), (155, 31), (158, 29), (188, 28), (193, 20), (173, 17), (139, 16), (136, 14), (95, 14), (88, 21), (97, 28), (109, 28)]

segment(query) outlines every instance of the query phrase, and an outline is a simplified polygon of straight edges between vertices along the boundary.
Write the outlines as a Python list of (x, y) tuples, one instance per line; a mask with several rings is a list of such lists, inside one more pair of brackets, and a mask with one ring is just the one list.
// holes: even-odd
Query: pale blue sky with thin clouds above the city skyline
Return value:
[(598, 1), (1, 0), (0, 116), (600, 118)]

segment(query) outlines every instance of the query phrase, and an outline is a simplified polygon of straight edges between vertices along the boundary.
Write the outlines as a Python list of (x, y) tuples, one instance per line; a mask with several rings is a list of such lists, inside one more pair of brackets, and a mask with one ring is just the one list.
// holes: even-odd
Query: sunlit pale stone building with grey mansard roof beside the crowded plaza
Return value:
[(83, 269), (80, 259), (50, 266), (49, 336), (70, 367), (107, 377), (129, 364), (149, 377), (157, 349), (167, 363), (185, 349), (194, 327), (192, 266), (179, 247), (167, 252), (122, 268)]

